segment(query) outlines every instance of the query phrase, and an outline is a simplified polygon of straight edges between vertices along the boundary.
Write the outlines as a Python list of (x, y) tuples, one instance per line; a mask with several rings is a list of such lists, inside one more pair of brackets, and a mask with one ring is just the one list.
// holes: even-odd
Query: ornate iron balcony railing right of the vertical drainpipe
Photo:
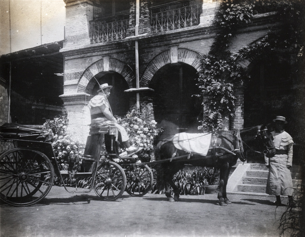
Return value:
[(200, 23), (202, 4), (190, 5), (184, 3), (181, 8), (171, 9), (165, 6), (151, 11), (150, 25), (153, 33), (191, 27)]

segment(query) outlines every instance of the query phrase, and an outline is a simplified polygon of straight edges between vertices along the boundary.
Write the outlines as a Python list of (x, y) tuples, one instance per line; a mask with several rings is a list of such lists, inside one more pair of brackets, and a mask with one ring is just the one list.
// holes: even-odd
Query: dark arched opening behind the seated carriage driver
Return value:
[[(97, 78), (100, 85), (108, 83), (108, 85), (113, 86), (113, 88), (111, 89), (110, 96), (108, 98), (112, 113), (120, 117), (125, 116), (129, 110), (130, 105), (129, 97), (126, 93), (124, 93), (124, 90), (129, 89), (129, 86), (124, 77), (114, 72), (101, 72), (95, 75), (95, 78)], [(98, 89), (99, 85), (98, 83), (96, 83), (92, 90), (92, 94), (98, 94)]]

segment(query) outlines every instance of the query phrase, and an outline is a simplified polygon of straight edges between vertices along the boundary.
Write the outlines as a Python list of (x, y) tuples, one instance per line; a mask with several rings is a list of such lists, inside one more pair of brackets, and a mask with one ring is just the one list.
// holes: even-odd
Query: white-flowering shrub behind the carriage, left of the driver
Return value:
[(78, 155), (78, 148), (80, 143), (71, 138), (71, 135), (67, 132), (67, 113), (59, 117), (55, 117), (53, 120), (47, 119), (43, 124), (49, 132), (53, 133), (52, 148), (55, 153), (59, 169), (68, 169), (68, 157), (69, 155)]

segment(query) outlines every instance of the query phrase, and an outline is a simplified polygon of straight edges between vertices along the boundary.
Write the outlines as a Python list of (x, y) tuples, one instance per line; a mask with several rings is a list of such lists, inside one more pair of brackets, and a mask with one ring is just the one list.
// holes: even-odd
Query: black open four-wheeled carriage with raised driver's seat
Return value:
[[(153, 185), (153, 173), (147, 165), (136, 165), (134, 154), (119, 154), (116, 133), (113, 125), (91, 127), (84, 154), (71, 155), (68, 171), (60, 171), (47, 141), (49, 133), (41, 126), (3, 125), (0, 199), (12, 206), (33, 205), (49, 193), (55, 176), (68, 192), (94, 189), (101, 200), (116, 200), (124, 191), (133, 196), (146, 194)], [(77, 169), (76, 163), (81, 164)], [(67, 183), (76, 189), (68, 190)]]

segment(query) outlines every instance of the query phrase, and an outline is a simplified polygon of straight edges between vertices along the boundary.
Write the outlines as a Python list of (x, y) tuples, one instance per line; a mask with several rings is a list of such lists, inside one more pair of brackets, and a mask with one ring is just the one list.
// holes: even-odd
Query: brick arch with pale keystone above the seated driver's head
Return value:
[(106, 56), (87, 67), (78, 81), (77, 92), (91, 93), (96, 84), (96, 80), (93, 77), (98, 73), (109, 71), (122, 75), (129, 88), (132, 87), (135, 75), (131, 67), (125, 62)]

